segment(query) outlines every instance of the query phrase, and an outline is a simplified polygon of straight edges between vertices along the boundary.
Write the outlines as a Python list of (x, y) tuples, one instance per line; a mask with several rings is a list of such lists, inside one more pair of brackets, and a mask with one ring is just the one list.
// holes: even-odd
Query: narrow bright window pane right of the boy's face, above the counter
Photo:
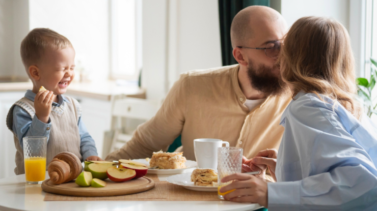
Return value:
[(142, 1), (113, 0), (111, 4), (111, 77), (138, 80), (142, 65)]

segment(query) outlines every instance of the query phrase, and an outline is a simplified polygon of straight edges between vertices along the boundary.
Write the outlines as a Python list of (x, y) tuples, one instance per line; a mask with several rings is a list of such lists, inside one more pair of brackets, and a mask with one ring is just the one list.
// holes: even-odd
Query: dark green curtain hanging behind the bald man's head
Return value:
[(223, 66), (237, 64), (230, 42), (230, 25), (234, 16), (242, 9), (253, 5), (270, 7), (270, 0), (219, 0), (221, 56)]

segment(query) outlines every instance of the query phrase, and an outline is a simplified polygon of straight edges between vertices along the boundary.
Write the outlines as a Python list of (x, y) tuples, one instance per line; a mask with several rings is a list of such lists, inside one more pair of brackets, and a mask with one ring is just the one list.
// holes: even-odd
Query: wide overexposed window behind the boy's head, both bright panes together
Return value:
[(30, 0), (29, 28), (47, 27), (71, 41), (75, 79), (137, 81), (142, 64), (141, 2)]

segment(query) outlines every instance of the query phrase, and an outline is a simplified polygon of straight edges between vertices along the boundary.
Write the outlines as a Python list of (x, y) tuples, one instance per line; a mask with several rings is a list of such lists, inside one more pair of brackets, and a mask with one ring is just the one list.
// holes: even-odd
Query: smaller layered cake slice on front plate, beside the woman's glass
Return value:
[(210, 168), (197, 168), (191, 174), (191, 182), (195, 186), (218, 186), (218, 173)]

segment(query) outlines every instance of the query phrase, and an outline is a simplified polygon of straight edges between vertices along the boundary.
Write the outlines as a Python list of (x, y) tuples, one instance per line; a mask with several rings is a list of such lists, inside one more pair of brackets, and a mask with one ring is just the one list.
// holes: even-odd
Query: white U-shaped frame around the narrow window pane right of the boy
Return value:
[(113, 80), (124, 79), (129, 81), (138, 81), (140, 76), (140, 71), (142, 69), (142, 1), (135, 0), (135, 70), (134, 74), (119, 74), (118, 70), (118, 36), (117, 36), (117, 13), (118, 7), (116, 1), (109, 1), (109, 10), (110, 10), (110, 78)]

